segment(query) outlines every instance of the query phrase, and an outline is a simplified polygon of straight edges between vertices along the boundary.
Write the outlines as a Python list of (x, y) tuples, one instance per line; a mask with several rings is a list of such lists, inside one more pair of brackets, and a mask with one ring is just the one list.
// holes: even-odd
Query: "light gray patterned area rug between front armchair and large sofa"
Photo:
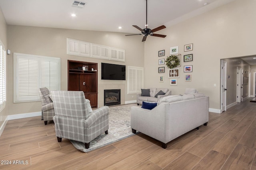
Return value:
[[(131, 129), (131, 107), (136, 104), (109, 107), (109, 129), (108, 134), (101, 134), (90, 142), (90, 147), (85, 148), (84, 143), (70, 140), (71, 143), (82, 152), (89, 152), (102, 146), (112, 144), (119, 140), (135, 135)], [(137, 132), (138, 133), (138, 132)]]

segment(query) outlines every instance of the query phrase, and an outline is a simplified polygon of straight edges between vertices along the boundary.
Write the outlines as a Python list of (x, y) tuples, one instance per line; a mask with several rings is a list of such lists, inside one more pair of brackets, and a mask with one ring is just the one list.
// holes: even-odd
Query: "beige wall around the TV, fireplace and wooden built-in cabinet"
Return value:
[[(41, 102), (13, 103), (13, 53), (26, 53), (61, 58), (61, 89), (67, 90), (67, 60), (88, 61), (98, 63), (98, 105), (103, 106), (104, 89), (121, 89), (121, 104), (136, 100), (133, 95), (127, 95), (126, 81), (101, 80), (101, 62), (126, 66), (144, 67), (144, 43), (141, 36), (124, 36), (124, 33), (96, 32), (84, 30), (68, 30), (57, 28), (40, 28), (29, 26), (8, 25), (8, 111), (10, 115), (33, 113), (41, 110)], [(106, 45), (125, 50), (125, 62), (79, 57), (66, 54), (66, 38), (73, 38), (100, 45)]]

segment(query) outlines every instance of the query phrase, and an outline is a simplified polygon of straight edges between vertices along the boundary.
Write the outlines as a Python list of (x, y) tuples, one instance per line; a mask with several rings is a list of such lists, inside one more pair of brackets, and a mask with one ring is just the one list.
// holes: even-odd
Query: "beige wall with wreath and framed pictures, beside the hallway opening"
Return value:
[[(168, 87), (172, 94), (183, 94), (186, 87), (196, 88), (210, 97), (210, 108), (220, 109), (220, 59), (255, 55), (256, 1), (236, 0), (222, 7), (157, 32), (166, 38), (149, 37), (145, 43), (145, 87)], [(193, 51), (184, 45), (193, 43)], [(158, 59), (168, 56), (170, 47), (178, 46), (182, 55), (178, 85), (170, 86), (168, 69), (158, 73)], [(158, 51), (165, 49), (165, 57)], [(183, 62), (183, 55), (193, 54), (193, 61)], [(184, 65), (193, 65), (192, 81), (185, 82)], [(164, 75), (164, 83), (158, 77)], [(217, 87), (214, 87), (216, 83)]]

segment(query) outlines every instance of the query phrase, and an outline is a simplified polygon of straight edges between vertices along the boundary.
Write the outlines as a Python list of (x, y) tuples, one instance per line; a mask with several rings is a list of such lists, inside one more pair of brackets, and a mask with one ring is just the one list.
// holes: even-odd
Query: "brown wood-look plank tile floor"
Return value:
[[(256, 170), (256, 103), (209, 113), (208, 126), (172, 140), (166, 149), (142, 133), (88, 153), (41, 117), (8, 121), (0, 136), (0, 169)], [(7, 164), (10, 163), (10, 164)]]

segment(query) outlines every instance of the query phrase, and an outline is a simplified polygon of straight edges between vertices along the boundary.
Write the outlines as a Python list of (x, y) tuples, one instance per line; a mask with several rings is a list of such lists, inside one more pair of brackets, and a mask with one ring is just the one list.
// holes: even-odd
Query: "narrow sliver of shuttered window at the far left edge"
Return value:
[(6, 51), (0, 40), (0, 111), (6, 102)]

